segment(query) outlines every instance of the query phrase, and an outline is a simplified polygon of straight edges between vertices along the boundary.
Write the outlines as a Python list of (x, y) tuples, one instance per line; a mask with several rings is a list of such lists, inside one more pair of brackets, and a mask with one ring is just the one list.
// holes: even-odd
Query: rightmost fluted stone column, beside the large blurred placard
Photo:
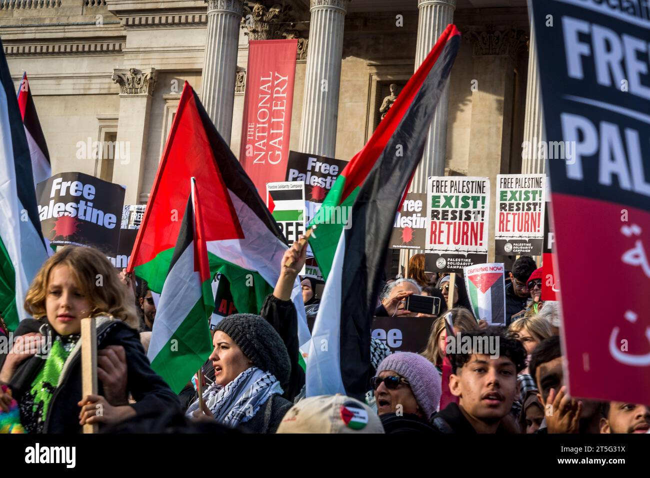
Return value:
[(537, 50), (535, 48), (535, 30), (532, 21), (530, 22), (530, 40), (528, 42), (525, 114), (523, 140), (528, 147), (526, 147), (526, 151), (522, 151), (521, 172), (525, 174), (543, 173), (546, 164), (544, 158), (539, 157), (538, 142), (545, 140), (544, 118), (541, 107), (541, 85), (539, 84)]

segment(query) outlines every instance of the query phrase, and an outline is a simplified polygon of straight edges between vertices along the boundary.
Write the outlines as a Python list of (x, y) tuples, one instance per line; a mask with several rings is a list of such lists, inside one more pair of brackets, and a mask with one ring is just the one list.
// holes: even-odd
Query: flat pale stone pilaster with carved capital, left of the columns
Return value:
[(120, 116), (112, 182), (126, 186), (124, 204), (138, 204), (156, 70), (114, 69), (112, 80), (120, 84)]

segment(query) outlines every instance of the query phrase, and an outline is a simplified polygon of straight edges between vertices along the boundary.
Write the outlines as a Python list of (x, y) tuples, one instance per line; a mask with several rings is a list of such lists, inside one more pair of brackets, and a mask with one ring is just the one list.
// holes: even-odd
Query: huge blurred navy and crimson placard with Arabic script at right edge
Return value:
[[(650, 19), (628, 3), (532, 7), (565, 384), (571, 397), (649, 403)], [(589, 308), (585, 333), (579, 318), (604, 271), (630, 285)]]

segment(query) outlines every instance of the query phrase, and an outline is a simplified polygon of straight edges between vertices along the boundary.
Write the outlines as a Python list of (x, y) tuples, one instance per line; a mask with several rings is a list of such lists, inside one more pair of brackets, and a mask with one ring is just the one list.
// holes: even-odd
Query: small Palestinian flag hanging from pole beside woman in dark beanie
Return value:
[(147, 356), (151, 368), (178, 394), (212, 351), (209, 318), (212, 277), (196, 182), (187, 201), (167, 279), (158, 301)]

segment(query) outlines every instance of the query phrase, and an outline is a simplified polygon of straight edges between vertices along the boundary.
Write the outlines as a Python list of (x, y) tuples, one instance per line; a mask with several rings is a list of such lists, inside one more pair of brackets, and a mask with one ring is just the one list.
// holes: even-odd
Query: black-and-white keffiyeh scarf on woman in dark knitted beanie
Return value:
[[(203, 400), (214, 415), (214, 420), (234, 428), (253, 418), (270, 396), (282, 393), (282, 387), (275, 375), (251, 367), (242, 371), (226, 386), (211, 384), (203, 392)], [(192, 417), (198, 409), (199, 401), (196, 399), (185, 415)]]

